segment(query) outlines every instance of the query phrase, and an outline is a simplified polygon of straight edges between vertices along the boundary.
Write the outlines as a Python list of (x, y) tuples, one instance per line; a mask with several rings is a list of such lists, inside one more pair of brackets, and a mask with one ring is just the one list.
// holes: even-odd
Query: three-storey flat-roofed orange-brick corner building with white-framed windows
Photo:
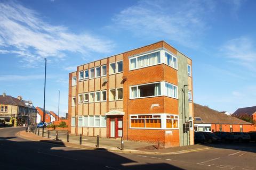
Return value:
[(194, 144), (192, 61), (165, 41), (69, 73), (71, 134)]

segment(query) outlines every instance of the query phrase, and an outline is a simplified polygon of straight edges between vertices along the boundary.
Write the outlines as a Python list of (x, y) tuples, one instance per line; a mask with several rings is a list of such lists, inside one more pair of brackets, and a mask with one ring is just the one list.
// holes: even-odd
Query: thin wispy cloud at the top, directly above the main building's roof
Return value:
[(194, 47), (206, 28), (205, 17), (214, 6), (213, 1), (140, 1), (117, 14), (114, 27), (130, 30), (136, 36)]

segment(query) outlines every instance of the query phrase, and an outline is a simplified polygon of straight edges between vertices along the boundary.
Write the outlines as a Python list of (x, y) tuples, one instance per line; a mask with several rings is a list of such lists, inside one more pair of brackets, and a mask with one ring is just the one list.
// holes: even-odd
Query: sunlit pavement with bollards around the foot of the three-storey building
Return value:
[(65, 145), (69, 147), (83, 148), (83, 149), (104, 149), (111, 152), (122, 152), (131, 154), (155, 154), (155, 155), (170, 155), (170, 154), (182, 154), (184, 152), (198, 151), (211, 149), (210, 147), (203, 145), (191, 145), (183, 147), (172, 147), (172, 148), (160, 148), (152, 145), (152, 143), (137, 142), (137, 141), (124, 141), (124, 150), (121, 150), (120, 139), (109, 139), (100, 138), (99, 148), (96, 147), (96, 137), (84, 137), (82, 136), (82, 145), (79, 145), (79, 135), (70, 135), (69, 142), (67, 142), (67, 131), (58, 131), (58, 140), (56, 140), (56, 131), (49, 131), (50, 135), (48, 138), (47, 131), (44, 132), (44, 138), (42, 137), (42, 129), (38, 133), (28, 133), (20, 131), (19, 137), (33, 141), (51, 142), (59, 145)]

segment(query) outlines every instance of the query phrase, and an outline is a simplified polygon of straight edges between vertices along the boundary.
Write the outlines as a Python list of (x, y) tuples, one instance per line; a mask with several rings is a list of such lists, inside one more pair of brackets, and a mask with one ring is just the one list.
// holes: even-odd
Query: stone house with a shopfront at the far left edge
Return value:
[(32, 101), (7, 96), (5, 92), (0, 95), (0, 123), (9, 126), (31, 125), (36, 122), (36, 108)]

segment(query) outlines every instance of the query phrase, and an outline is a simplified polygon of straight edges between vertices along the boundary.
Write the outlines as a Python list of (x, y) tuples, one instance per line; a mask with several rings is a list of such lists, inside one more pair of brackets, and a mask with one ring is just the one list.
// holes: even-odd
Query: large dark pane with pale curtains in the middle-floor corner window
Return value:
[(138, 86), (138, 97), (149, 97), (161, 95), (160, 83)]

